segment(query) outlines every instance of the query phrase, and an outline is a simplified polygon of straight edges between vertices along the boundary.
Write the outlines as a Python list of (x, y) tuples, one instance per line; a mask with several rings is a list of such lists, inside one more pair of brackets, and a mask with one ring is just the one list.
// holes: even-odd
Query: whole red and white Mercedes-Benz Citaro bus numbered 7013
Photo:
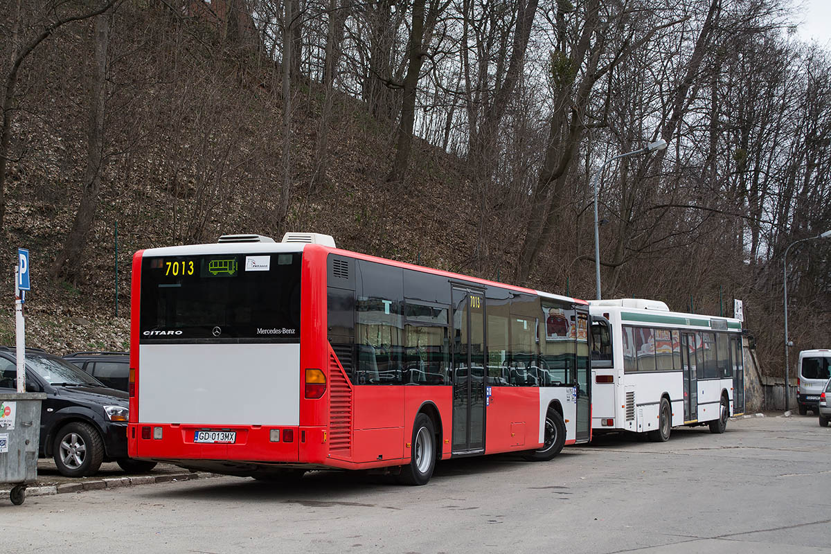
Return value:
[(588, 303), (232, 235), (133, 257), (130, 457), (254, 478), (591, 438)]

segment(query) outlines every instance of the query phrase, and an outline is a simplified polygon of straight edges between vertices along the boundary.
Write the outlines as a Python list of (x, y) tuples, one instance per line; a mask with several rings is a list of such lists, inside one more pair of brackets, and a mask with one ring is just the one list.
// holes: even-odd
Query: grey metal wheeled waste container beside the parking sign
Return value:
[(26, 499), (37, 480), (43, 393), (0, 393), (0, 484), (11, 484), (13, 504)]

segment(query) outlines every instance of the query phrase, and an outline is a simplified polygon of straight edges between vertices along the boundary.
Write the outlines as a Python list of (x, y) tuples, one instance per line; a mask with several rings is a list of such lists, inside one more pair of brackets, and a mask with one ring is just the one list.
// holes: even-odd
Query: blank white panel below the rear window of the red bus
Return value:
[(297, 425), (300, 345), (140, 345), (138, 388), (143, 423)]

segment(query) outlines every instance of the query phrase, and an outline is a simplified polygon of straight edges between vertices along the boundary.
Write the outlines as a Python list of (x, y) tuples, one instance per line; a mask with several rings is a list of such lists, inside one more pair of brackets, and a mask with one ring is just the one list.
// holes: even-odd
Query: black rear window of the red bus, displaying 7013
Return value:
[(300, 252), (145, 257), (141, 342), (298, 342)]

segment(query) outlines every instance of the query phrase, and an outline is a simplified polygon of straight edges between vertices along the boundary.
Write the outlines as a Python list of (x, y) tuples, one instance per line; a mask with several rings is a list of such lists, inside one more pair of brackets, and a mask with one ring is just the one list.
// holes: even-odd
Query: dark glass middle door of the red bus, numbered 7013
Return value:
[(484, 450), (484, 294), (453, 289), (453, 453)]

